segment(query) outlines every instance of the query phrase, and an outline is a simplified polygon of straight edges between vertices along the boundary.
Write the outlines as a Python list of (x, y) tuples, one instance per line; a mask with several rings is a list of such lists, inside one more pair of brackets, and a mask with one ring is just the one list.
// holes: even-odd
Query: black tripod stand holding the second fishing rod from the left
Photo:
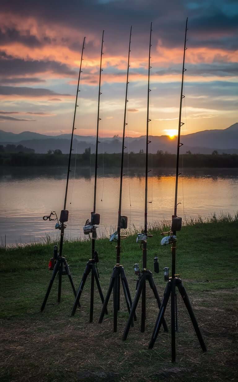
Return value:
[[(77, 306), (80, 306), (79, 299), (81, 297), (81, 294), (83, 292), (84, 284), (86, 283), (87, 276), (91, 272), (91, 295), (90, 295), (90, 314), (89, 314), (89, 322), (92, 322), (93, 319), (93, 308), (94, 308), (94, 279), (96, 280), (97, 289), (99, 291), (99, 295), (102, 301), (102, 304), (104, 303), (104, 296), (102, 293), (102, 288), (99, 281), (99, 273), (97, 270), (97, 263), (99, 262), (97, 251), (94, 251), (95, 248), (95, 239), (96, 239), (96, 227), (93, 228), (93, 241), (92, 241), (92, 252), (93, 252), (93, 259), (89, 259), (89, 261), (86, 264), (86, 267), (84, 269), (84, 274), (81, 280), (81, 283), (78, 288), (78, 292), (76, 295), (76, 298), (74, 300), (73, 309), (71, 312), (71, 316), (74, 316)], [(107, 314), (107, 309), (105, 311)]]

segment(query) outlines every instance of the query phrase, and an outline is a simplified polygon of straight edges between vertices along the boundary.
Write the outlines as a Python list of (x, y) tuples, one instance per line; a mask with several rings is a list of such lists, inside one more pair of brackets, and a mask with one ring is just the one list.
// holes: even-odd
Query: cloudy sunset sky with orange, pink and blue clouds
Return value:
[(186, 17), (183, 133), (237, 122), (237, 0), (2, 0), (0, 129), (71, 132), (86, 36), (76, 127), (94, 135), (105, 29), (99, 134), (121, 135), (132, 24), (127, 121), (130, 136), (145, 134), (151, 21), (151, 132), (177, 129)]

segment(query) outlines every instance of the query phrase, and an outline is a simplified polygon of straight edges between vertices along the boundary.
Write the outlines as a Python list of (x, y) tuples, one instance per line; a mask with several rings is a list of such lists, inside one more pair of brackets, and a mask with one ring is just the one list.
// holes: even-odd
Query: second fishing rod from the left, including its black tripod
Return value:
[[(102, 301), (102, 304), (104, 303), (104, 296), (102, 293), (102, 288), (99, 281), (99, 273), (97, 270), (97, 263), (99, 262), (99, 257), (97, 251), (95, 251), (95, 241), (97, 239), (97, 225), (100, 223), (100, 214), (96, 213), (96, 196), (97, 196), (97, 168), (99, 167), (97, 164), (98, 159), (98, 144), (99, 141), (99, 121), (101, 118), (99, 118), (99, 111), (100, 111), (100, 95), (101, 92), (101, 74), (102, 74), (102, 49), (103, 49), (103, 43), (104, 43), (104, 31), (102, 32), (102, 45), (101, 45), (101, 55), (100, 55), (100, 70), (99, 70), (99, 91), (98, 91), (98, 105), (97, 105), (97, 135), (96, 135), (96, 150), (95, 150), (95, 177), (94, 177), (94, 202), (93, 202), (93, 211), (91, 212), (91, 219), (87, 219), (86, 223), (83, 227), (84, 235), (92, 234), (92, 258), (89, 259), (89, 261), (86, 264), (86, 267), (84, 269), (84, 274), (81, 279), (81, 283), (78, 288), (78, 292), (76, 295), (76, 298), (74, 300), (73, 309), (71, 312), (71, 316), (74, 316), (77, 306), (79, 305), (79, 299), (81, 297), (81, 294), (83, 292), (84, 284), (87, 280), (87, 276), (91, 272), (91, 295), (90, 295), (90, 313), (89, 313), (89, 322), (92, 322), (93, 319), (93, 310), (94, 310), (94, 280), (96, 280), (97, 289), (99, 291), (99, 296)], [(107, 314), (107, 311), (106, 311)]]

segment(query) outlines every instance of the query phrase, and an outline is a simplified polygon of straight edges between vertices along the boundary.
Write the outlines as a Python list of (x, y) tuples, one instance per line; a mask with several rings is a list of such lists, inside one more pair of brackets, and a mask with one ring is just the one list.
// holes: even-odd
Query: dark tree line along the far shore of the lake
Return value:
[[(15, 145), (7, 145), (15, 146)], [(21, 145), (19, 145), (21, 146)], [(36, 154), (34, 150), (17, 151), (2, 151), (0, 149), (0, 164), (5, 166), (67, 166), (69, 154), (62, 154), (60, 150), (51, 151), (47, 154)], [(9, 147), (8, 147), (9, 148)], [(26, 149), (26, 148), (25, 148)], [(141, 167), (145, 166), (146, 154), (141, 150), (139, 153), (130, 152), (125, 153), (124, 157), (125, 166), (129, 167)], [(71, 165), (75, 163), (75, 154), (71, 155)], [(121, 154), (99, 154), (98, 164), (101, 167), (120, 167), (121, 166)], [(94, 167), (95, 154), (91, 154), (90, 147), (86, 148), (83, 154), (77, 154), (76, 166), (80, 167)], [(175, 167), (176, 154), (169, 154), (168, 152), (157, 151), (156, 154), (149, 154), (149, 167)], [(238, 167), (238, 155), (237, 154), (218, 154), (214, 151), (212, 154), (186, 154), (180, 155), (180, 166), (183, 167), (226, 167), (235, 168)]]

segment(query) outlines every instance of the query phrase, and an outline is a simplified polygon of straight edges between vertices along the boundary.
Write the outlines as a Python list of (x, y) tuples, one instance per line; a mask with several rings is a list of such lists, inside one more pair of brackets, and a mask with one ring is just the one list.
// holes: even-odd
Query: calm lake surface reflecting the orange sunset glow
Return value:
[[(113, 230), (117, 224), (120, 168), (99, 171), (97, 213), (101, 215), (98, 234)], [(0, 170), (1, 220), (3, 243), (29, 243), (43, 240), (45, 234), (55, 237), (55, 222), (43, 215), (63, 208), (66, 168), (2, 168)], [(170, 220), (173, 213), (175, 170), (154, 169), (149, 173), (148, 220)], [(178, 185), (178, 215), (209, 216), (214, 212), (238, 210), (238, 169), (185, 169)], [(84, 236), (83, 225), (91, 216), (94, 195), (94, 173), (90, 168), (76, 168), (70, 173), (67, 209), (70, 212), (65, 235)], [(102, 200), (101, 200), (102, 199)], [(150, 203), (152, 201), (152, 203)], [(71, 204), (70, 204), (71, 203)], [(123, 177), (122, 214), (128, 226), (144, 224), (144, 172), (131, 169)]]

